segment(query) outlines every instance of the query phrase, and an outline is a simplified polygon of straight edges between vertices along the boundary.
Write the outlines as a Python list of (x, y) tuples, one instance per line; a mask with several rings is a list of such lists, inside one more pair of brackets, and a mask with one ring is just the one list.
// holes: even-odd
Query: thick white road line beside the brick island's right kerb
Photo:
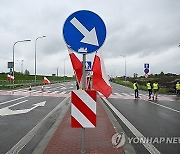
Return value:
[[(106, 98), (102, 98), (137, 138), (145, 138)], [(151, 154), (160, 154), (151, 143), (142, 143)]]

